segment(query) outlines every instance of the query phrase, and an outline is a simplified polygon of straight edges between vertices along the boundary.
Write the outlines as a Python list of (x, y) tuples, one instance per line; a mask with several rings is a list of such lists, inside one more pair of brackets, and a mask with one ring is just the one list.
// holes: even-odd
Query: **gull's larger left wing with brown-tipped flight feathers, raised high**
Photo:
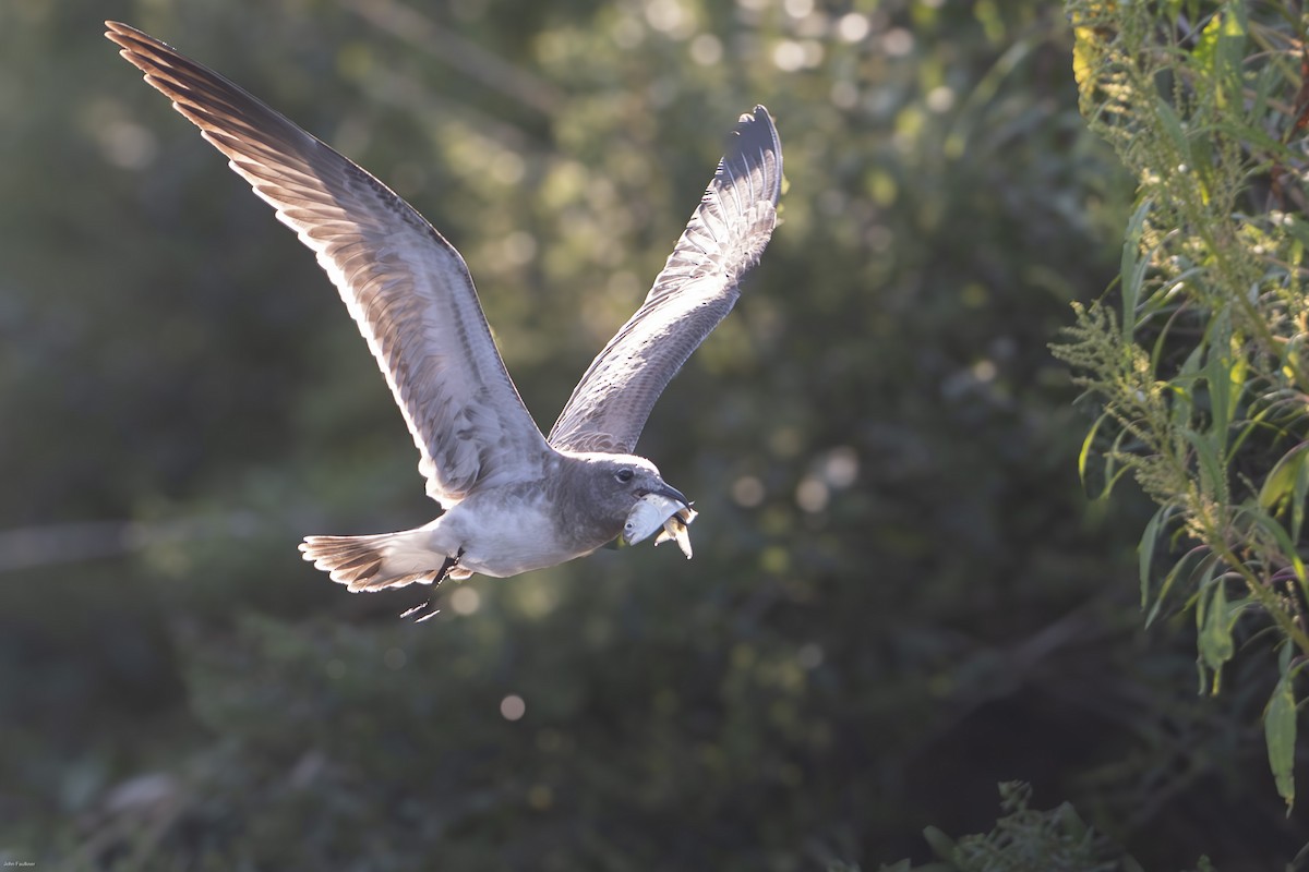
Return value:
[(114, 21), (106, 37), (313, 248), (368, 340), (449, 507), (550, 447), (491, 339), (459, 252), (399, 196), (223, 76)]

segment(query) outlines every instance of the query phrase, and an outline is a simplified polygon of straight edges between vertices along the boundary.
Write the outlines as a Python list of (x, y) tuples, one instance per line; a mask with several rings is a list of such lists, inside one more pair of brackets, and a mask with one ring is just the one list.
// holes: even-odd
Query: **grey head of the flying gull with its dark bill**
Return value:
[[(690, 506), (682, 493), (664, 482), (658, 469), (645, 458), (631, 454), (573, 454), (572, 472), (565, 475), (572, 518), (562, 518), (568, 532), (603, 545), (623, 532), (623, 522), (647, 494), (660, 494)], [(573, 514), (576, 512), (576, 514)]]

